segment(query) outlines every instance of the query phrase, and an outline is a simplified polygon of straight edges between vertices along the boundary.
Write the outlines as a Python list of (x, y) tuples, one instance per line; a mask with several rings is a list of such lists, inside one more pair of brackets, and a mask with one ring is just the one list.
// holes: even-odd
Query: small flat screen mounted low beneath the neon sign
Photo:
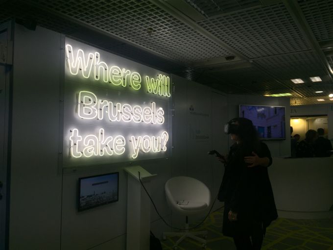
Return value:
[(116, 202), (119, 172), (79, 178), (78, 211)]

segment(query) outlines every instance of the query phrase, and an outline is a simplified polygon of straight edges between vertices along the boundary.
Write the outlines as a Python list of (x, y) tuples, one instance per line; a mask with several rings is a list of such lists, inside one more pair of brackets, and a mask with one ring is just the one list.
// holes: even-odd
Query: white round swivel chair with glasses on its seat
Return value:
[(181, 236), (176, 242), (173, 249), (177, 249), (186, 237), (202, 243), (206, 248), (207, 241), (196, 235), (204, 235), (206, 238), (207, 231), (189, 231), (189, 215), (207, 215), (211, 205), (211, 192), (208, 187), (201, 181), (188, 177), (176, 176), (168, 181), (165, 185), (166, 201), (174, 213), (185, 216), (185, 229), (183, 232), (166, 232), (163, 233), (163, 239), (166, 236)]

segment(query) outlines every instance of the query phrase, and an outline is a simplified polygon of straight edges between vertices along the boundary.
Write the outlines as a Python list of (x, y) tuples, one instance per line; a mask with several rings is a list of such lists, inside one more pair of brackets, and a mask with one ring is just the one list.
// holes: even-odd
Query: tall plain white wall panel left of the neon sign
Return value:
[(9, 248), (60, 248), (59, 33), (16, 25)]

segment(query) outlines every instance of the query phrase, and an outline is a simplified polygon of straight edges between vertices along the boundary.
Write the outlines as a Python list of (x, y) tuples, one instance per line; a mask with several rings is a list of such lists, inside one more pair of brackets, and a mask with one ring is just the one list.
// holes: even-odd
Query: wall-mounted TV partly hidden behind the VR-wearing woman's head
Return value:
[(285, 107), (239, 105), (239, 117), (250, 119), (262, 140), (285, 140)]

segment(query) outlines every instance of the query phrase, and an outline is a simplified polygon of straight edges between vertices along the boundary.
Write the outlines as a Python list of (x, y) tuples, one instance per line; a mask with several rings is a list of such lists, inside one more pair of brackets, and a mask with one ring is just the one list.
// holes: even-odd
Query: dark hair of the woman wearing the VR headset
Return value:
[(233, 121), (238, 122), (237, 135), (241, 143), (246, 148), (256, 149), (259, 146), (259, 136), (252, 121), (247, 118), (234, 118)]

